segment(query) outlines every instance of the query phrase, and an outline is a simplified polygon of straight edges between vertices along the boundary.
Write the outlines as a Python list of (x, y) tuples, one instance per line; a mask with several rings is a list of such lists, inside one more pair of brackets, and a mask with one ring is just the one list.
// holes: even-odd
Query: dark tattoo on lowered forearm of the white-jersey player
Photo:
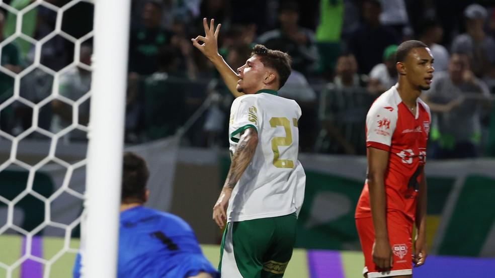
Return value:
[(247, 165), (251, 162), (256, 151), (256, 145), (256, 143), (253, 143), (253, 140), (250, 141), (246, 138), (241, 138), (232, 157), (232, 163), (230, 164), (227, 179), (225, 180), (225, 188), (233, 189), (235, 187)]

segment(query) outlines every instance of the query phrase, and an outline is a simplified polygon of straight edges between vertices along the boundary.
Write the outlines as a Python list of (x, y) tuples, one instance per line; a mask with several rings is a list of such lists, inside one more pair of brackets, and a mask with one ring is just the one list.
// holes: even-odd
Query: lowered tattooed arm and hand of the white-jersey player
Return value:
[(223, 185), (222, 192), (213, 207), (213, 220), (218, 227), (223, 228), (227, 219), (227, 205), (232, 190), (239, 181), (240, 176), (247, 168), (247, 165), (255, 155), (256, 146), (258, 145), (258, 132), (254, 128), (247, 128), (240, 136), (239, 142), (232, 156), (232, 163), (228, 170), (227, 178)]

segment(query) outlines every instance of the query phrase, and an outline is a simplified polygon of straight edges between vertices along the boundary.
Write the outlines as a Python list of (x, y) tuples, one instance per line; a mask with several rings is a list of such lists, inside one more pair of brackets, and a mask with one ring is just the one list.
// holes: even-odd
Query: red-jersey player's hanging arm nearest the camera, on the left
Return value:
[(373, 262), (380, 269), (392, 267), (392, 248), (388, 241), (385, 170), (387, 169), (389, 152), (368, 147), (368, 188), (370, 194), (371, 218), (375, 229), (373, 244)]

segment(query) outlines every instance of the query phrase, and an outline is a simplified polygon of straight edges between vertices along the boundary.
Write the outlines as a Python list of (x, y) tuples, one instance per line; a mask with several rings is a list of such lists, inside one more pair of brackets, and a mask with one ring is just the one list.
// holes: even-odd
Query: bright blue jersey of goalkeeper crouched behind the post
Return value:
[[(79, 270), (77, 254), (74, 278)], [(219, 277), (184, 220), (141, 206), (120, 213), (117, 271), (119, 278), (183, 278), (199, 272)]]

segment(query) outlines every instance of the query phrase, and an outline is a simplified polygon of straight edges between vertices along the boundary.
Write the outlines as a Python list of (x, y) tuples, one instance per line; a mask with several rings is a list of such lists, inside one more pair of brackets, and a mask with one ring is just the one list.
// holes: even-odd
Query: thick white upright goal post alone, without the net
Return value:
[(130, 0), (96, 0), (83, 277), (115, 277)]

